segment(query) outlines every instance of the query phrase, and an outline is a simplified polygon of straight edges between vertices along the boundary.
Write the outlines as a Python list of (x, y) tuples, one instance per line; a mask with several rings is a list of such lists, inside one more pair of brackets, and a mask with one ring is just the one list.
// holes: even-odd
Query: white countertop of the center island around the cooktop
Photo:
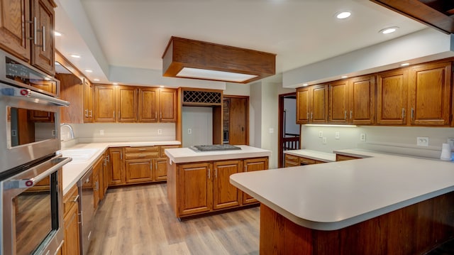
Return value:
[(166, 148), (165, 155), (170, 163), (189, 163), (199, 161), (219, 161), (234, 158), (269, 157), (271, 151), (246, 145), (236, 145), (240, 150), (232, 151), (193, 151), (190, 148)]

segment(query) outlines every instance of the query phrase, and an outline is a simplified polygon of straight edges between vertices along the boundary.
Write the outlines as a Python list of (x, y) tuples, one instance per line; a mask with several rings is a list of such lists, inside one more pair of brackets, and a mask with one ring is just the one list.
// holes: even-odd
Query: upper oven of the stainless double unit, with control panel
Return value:
[[(9, 59), (4, 56), (1, 60), (0, 57), (0, 61)], [(17, 65), (20, 64), (18, 60), (15, 61)], [(9, 65), (0, 65), (0, 68), (9, 70), (6, 74), (13, 72), (11, 71), (13, 67)], [(33, 72), (33, 77), (38, 77), (38, 70), (33, 70), (33, 67), (26, 65), (21, 65), (19, 70), (21, 71), (17, 71), (18, 75), (14, 76), (16, 82), (6, 79), (6, 77), (12, 78), (12, 75), (0, 76), (0, 130), (3, 131), (0, 133), (0, 158), (8, 158), (0, 164), (0, 176), (11, 168), (60, 150), (59, 107), (70, 104), (54, 97), (58, 94), (60, 85), (58, 80), (44, 75), (45, 79), (38, 82), (30, 75)], [(5, 72), (5, 70), (2, 71)], [(17, 78), (27, 77), (26, 74), (29, 74), (28, 79)], [(36, 87), (21, 84), (18, 80), (28, 81)], [(30, 81), (33, 81), (33, 84)], [(48, 89), (50, 92), (43, 93), (43, 89)]]

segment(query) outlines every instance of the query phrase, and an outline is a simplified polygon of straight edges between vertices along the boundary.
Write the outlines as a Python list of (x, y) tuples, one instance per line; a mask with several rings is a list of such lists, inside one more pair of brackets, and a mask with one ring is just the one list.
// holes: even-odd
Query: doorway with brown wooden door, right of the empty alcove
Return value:
[(223, 143), (249, 145), (248, 96), (223, 96)]

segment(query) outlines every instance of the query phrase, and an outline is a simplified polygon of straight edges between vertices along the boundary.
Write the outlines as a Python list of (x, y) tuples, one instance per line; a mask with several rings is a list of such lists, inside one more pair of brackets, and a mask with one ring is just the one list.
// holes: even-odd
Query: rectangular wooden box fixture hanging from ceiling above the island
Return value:
[[(162, 55), (162, 76), (177, 77), (183, 67), (257, 75), (249, 83), (275, 75), (276, 54), (172, 36)], [(204, 79), (205, 80), (205, 79)], [(206, 79), (209, 80), (209, 79)]]

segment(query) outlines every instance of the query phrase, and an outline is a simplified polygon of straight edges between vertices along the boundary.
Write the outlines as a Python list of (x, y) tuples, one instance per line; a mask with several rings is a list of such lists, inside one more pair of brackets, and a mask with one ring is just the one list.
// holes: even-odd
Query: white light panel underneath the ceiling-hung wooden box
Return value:
[(206, 80), (223, 80), (226, 82), (244, 82), (257, 77), (258, 75), (246, 75), (237, 72), (223, 72), (216, 70), (199, 69), (184, 67), (177, 73), (177, 77), (206, 79)]

